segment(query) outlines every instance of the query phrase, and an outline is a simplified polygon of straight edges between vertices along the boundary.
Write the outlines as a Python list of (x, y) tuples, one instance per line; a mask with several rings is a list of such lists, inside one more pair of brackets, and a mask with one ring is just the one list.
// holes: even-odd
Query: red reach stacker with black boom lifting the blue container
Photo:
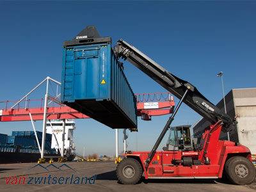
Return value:
[[(136, 184), (143, 173), (145, 179), (217, 179), (227, 176), (234, 184), (253, 182), (255, 168), (250, 150), (239, 143), (219, 140), (221, 131), (236, 129), (235, 119), (223, 114), (193, 84), (174, 76), (124, 40), (117, 42), (115, 54), (180, 99), (150, 152), (126, 152), (116, 168), (119, 182)], [(174, 146), (167, 151), (156, 151), (182, 102), (207, 118), (212, 125), (205, 129), (200, 145), (182, 149)]]

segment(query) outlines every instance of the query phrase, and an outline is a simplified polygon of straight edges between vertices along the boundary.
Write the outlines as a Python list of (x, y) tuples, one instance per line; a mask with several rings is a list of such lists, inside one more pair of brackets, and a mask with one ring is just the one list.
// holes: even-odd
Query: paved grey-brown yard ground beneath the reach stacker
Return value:
[[(61, 166), (61, 163), (54, 163), (56, 167), (48, 167), (48, 171), (44, 168), (35, 166), (35, 163), (24, 164), (0, 164), (0, 191), (256, 191), (256, 184), (250, 186), (235, 186), (220, 182), (218, 180), (143, 180), (140, 184), (125, 186), (118, 184), (115, 177), (114, 163), (100, 163), (100, 162), (80, 162), (67, 163), (68, 167)], [(44, 167), (49, 164), (42, 164)], [(61, 170), (58, 169), (60, 167)], [(31, 169), (32, 168), (32, 169)], [(15, 175), (26, 175), (26, 184), (15, 184)], [(64, 182), (67, 177), (67, 183), (72, 179), (72, 182), (78, 182), (76, 177), (92, 177), (97, 175), (95, 184), (35, 184), (35, 179), (45, 177), (45, 183), (48, 177), (64, 177)], [(29, 177), (33, 178), (33, 184), (27, 184)], [(23, 178), (23, 177), (21, 177)], [(24, 180), (24, 179), (23, 179)], [(20, 180), (20, 183), (23, 182)], [(37, 180), (39, 182), (39, 180)], [(52, 180), (51, 180), (52, 181)], [(93, 183), (93, 177), (90, 180)], [(6, 184), (9, 182), (9, 184)], [(62, 180), (61, 180), (62, 182)], [(13, 183), (13, 184), (11, 184)], [(19, 177), (17, 177), (19, 183)], [(42, 178), (44, 183), (44, 178)]]

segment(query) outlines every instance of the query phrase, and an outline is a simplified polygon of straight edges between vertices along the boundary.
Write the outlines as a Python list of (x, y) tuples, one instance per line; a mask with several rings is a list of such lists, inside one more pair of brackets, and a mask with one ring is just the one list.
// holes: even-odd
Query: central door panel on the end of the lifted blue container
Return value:
[(99, 56), (97, 47), (76, 50), (74, 99), (93, 99), (99, 95)]

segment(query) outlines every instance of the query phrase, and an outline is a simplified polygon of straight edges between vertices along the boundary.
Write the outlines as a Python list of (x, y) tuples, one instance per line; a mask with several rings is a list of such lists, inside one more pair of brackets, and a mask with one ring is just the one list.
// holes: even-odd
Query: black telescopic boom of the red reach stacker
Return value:
[(124, 58), (124, 60), (127, 60), (135, 67), (138, 67), (142, 72), (150, 76), (166, 90), (173, 93), (178, 99), (182, 98), (185, 90), (189, 90), (186, 99), (184, 99), (184, 103), (195, 110), (196, 113), (207, 118), (212, 124), (221, 120), (224, 125), (223, 131), (228, 131), (228, 127), (233, 123), (232, 118), (227, 114), (222, 113), (220, 109), (206, 99), (193, 84), (174, 76), (172, 73), (168, 72), (168, 70), (156, 63), (156, 61), (153, 61), (143, 54), (143, 52), (124, 40), (118, 40), (114, 52), (118, 58)]

